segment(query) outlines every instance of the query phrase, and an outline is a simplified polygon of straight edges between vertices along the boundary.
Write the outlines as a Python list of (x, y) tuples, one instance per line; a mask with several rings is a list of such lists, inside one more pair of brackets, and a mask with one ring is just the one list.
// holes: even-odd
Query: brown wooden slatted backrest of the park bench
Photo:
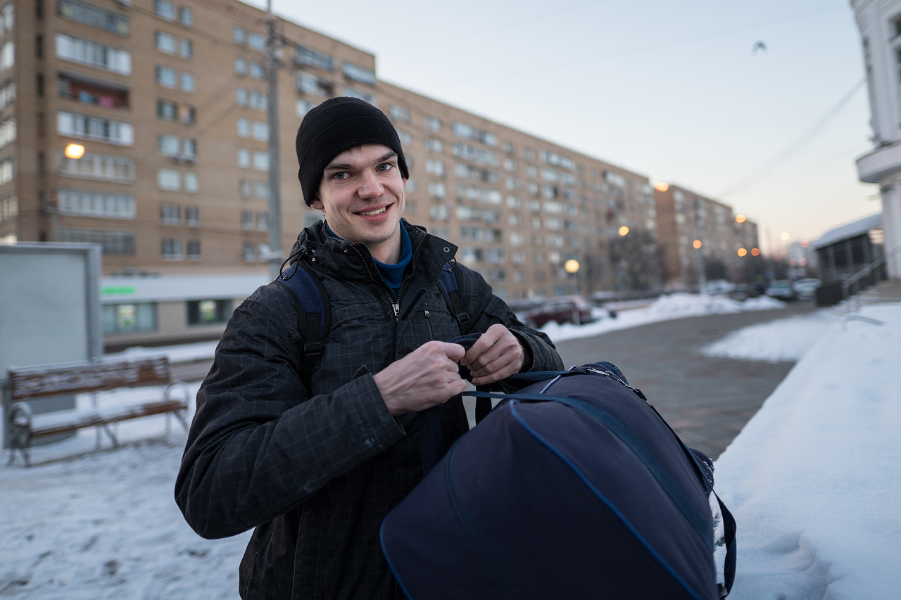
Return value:
[(103, 392), (117, 387), (161, 386), (170, 377), (167, 357), (120, 362), (69, 362), (11, 368), (13, 402), (48, 395)]

